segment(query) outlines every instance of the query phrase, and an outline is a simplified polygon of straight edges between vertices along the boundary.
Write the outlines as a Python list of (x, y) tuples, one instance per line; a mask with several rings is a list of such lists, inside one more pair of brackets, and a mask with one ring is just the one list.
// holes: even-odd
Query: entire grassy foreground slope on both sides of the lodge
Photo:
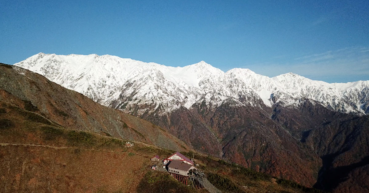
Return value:
[[(34, 115), (34, 116), (31, 116)], [(149, 158), (173, 151), (75, 131), (0, 101), (1, 192), (206, 192), (167, 172), (151, 171)], [(191, 153), (183, 152), (191, 157)], [(296, 184), (194, 154), (199, 168), (224, 192), (304, 192)], [(283, 181), (287, 182), (287, 181)], [(305, 189), (309, 190), (309, 189)]]

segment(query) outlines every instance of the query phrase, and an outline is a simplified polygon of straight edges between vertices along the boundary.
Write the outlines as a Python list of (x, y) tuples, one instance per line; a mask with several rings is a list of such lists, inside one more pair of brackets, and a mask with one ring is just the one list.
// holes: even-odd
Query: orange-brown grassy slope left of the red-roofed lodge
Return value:
[(66, 129), (0, 101), (0, 192), (135, 192), (149, 158), (172, 151), (134, 143)]

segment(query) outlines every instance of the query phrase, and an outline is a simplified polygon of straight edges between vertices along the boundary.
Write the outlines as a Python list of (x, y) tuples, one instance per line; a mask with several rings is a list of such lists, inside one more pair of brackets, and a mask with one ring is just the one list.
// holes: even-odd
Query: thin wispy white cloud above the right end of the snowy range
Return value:
[(262, 63), (245, 66), (256, 73), (273, 77), (292, 72), (314, 80), (335, 82), (369, 80), (368, 47), (350, 47), (300, 56), (286, 63)]

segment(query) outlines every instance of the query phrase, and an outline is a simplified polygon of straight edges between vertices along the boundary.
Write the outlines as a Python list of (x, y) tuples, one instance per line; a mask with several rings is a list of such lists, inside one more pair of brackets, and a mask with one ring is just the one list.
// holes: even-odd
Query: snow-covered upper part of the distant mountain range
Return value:
[(180, 106), (190, 109), (203, 102), (213, 108), (224, 102), (297, 107), (301, 99), (339, 112), (369, 114), (369, 81), (325, 83), (293, 73), (269, 78), (249, 69), (223, 72), (204, 61), (169, 67), (95, 54), (39, 53), (14, 65), (135, 115), (168, 113)]

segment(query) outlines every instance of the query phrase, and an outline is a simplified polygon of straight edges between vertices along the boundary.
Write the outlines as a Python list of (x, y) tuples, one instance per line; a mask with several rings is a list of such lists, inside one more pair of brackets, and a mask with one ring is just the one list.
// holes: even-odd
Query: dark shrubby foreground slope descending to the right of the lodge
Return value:
[(183, 154), (188, 157), (194, 156), (194, 161), (199, 164), (198, 168), (202, 169), (208, 180), (223, 192), (321, 192), (208, 155), (193, 152), (183, 152)]

